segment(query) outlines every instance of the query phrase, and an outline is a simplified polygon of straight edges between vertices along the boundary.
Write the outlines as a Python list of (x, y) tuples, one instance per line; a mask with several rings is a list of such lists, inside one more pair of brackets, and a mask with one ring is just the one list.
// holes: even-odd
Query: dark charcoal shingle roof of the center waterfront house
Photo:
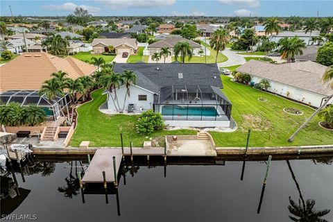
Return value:
[[(158, 68), (158, 69), (157, 69)], [(200, 63), (116, 63), (114, 71), (132, 70), (137, 74), (139, 87), (158, 93), (160, 87), (169, 85), (207, 85), (222, 88), (216, 64)], [(182, 78), (178, 74), (182, 73)]]

